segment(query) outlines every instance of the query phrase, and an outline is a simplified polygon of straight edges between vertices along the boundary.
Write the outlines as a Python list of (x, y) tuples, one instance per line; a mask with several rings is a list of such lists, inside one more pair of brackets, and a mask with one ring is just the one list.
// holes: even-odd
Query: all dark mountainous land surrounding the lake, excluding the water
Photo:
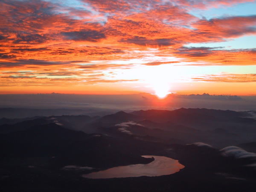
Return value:
[[(256, 127), (245, 112), (120, 111), (15, 121), (0, 126), (3, 192), (254, 192)], [(229, 146), (238, 143), (244, 144)], [(160, 177), (81, 177), (154, 160), (141, 155), (171, 157), (185, 168)]]

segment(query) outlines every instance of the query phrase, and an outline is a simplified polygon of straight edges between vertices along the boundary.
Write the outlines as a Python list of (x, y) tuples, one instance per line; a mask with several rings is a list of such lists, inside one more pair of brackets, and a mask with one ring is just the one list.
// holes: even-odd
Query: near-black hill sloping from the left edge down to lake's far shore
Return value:
[(108, 168), (113, 165), (148, 163), (148, 159), (140, 155), (157, 149), (163, 150), (163, 145), (85, 134), (54, 123), (0, 134), (0, 150), (6, 160), (40, 157), (46, 160), (43, 163), (46, 167), (53, 168), (68, 165)]

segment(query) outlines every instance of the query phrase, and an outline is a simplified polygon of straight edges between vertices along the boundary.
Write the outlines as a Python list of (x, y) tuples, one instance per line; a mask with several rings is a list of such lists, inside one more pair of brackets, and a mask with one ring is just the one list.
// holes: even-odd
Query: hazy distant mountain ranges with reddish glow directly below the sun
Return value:
[[(252, 142), (256, 138), (256, 120), (251, 112), (213, 109), (174, 111), (119, 111), (105, 116), (49, 116), (25, 119), (0, 119), (0, 132), (10, 133), (38, 125), (55, 123), (87, 134), (100, 133), (119, 137), (168, 143), (205, 142), (216, 147)], [(148, 139), (147, 139), (148, 138)], [(174, 140), (174, 141), (172, 141)]]

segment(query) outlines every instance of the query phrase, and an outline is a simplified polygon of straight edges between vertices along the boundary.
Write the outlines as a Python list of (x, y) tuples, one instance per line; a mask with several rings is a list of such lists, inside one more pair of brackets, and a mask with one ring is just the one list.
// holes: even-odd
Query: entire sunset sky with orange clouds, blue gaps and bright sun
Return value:
[(0, 0), (0, 94), (256, 94), (254, 0)]

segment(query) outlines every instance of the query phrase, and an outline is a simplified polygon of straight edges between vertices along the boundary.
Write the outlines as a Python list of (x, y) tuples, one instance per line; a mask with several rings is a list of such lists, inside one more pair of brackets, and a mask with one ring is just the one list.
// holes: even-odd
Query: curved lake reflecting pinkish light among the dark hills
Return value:
[(174, 160), (164, 156), (144, 155), (142, 157), (154, 157), (154, 161), (148, 164), (135, 164), (128, 166), (118, 166), (104, 171), (92, 172), (82, 175), (91, 179), (115, 178), (115, 177), (140, 177), (140, 176), (161, 176), (170, 175), (179, 172), (185, 166), (180, 164), (178, 160)]

